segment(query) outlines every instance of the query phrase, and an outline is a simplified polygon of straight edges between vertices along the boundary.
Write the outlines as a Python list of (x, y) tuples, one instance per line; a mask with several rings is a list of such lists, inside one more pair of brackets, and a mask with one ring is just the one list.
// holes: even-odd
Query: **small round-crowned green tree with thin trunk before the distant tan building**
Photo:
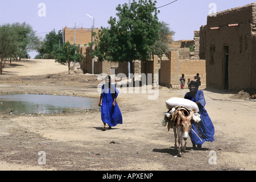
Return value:
[(55, 45), (52, 51), (52, 55), (55, 56), (55, 60), (58, 63), (68, 63), (68, 74), (70, 74), (70, 64), (72, 61), (76, 60), (80, 62), (82, 60), (82, 55), (77, 53), (80, 51), (80, 46), (75, 44), (70, 44), (69, 42), (59, 45)]

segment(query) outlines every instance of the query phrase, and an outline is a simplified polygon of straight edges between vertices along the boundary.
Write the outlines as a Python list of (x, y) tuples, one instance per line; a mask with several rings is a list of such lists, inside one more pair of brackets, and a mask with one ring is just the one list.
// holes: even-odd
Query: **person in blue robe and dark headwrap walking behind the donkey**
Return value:
[(215, 133), (214, 126), (212, 123), (212, 120), (210, 119), (207, 110), (205, 110), (205, 98), (204, 93), (202, 90), (199, 89), (199, 84), (196, 81), (191, 81), (189, 86), (188, 93), (185, 94), (184, 98), (187, 98), (188, 100), (191, 100), (197, 104), (199, 107), (199, 114), (201, 121), (200, 122), (191, 122), (192, 129), (195, 131), (195, 133), (200, 137), (197, 137), (197, 135), (193, 132), (189, 133), (189, 136), (191, 138), (193, 148), (201, 148), (202, 144), (205, 141), (212, 142), (214, 140), (213, 135)]

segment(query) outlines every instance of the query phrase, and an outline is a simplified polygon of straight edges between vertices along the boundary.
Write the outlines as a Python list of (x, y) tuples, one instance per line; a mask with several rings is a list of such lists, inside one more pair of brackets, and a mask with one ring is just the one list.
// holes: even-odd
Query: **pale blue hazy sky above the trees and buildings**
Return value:
[[(133, 0), (131, 0), (132, 2)], [(193, 31), (207, 24), (209, 11), (223, 11), (244, 6), (255, 1), (251, 0), (158, 0), (158, 18), (169, 24), (175, 31), (174, 40), (193, 39)], [(45, 5), (45, 7), (41, 6)], [(118, 4), (129, 3), (129, 0), (0, 0), (0, 24), (26, 22), (37, 35), (44, 36), (52, 31), (67, 27), (90, 28), (94, 17), (94, 26), (107, 27), (110, 16), (115, 16)], [(214, 6), (209, 6), (214, 3)], [(163, 6), (167, 5), (167, 6)], [(163, 7), (160, 7), (163, 6)], [(34, 58), (36, 52), (30, 52)]]

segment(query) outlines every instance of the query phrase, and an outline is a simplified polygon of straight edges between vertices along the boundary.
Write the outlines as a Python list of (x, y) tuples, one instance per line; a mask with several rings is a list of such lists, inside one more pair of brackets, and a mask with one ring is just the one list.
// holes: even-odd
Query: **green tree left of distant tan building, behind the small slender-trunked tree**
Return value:
[(56, 47), (56, 45), (59, 47), (60, 44), (63, 44), (62, 32), (59, 30), (56, 33), (55, 29), (53, 29), (51, 32), (46, 34), (46, 37), (44, 38), (41, 47), (38, 49), (38, 52), (41, 56), (44, 54), (49, 54), (49, 57), (53, 57), (51, 52)]

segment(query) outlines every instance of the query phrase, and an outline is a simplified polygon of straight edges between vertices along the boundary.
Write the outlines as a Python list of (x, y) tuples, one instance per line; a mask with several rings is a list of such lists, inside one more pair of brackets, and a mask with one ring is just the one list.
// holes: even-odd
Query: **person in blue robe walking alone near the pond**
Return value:
[[(106, 131), (106, 123), (109, 129), (117, 124), (122, 124), (122, 113), (117, 104), (118, 90), (111, 84), (110, 76), (104, 78), (105, 84), (102, 85), (99, 106), (101, 106), (101, 120), (104, 123), (102, 129)], [(101, 101), (102, 100), (102, 101)]]

